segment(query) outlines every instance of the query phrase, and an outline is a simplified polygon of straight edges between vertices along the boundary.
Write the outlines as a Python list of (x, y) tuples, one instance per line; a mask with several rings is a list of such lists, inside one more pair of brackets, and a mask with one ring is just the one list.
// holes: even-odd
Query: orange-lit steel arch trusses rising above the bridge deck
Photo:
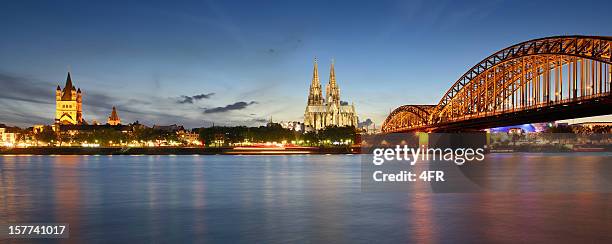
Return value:
[[(485, 58), (461, 76), (428, 109), (425, 125), (398, 126), (393, 118), (398, 112), (385, 120), (383, 131), (431, 130), (500, 114), (609, 99), (611, 65), (612, 37), (560, 36), (519, 43)], [(387, 125), (387, 121), (395, 123)]]

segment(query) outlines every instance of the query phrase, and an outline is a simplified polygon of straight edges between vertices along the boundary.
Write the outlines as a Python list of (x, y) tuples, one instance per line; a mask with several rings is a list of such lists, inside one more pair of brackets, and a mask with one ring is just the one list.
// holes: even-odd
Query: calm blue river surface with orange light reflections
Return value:
[(612, 194), (362, 192), (359, 157), (0, 156), (0, 223), (69, 223), (63, 243), (612, 242)]

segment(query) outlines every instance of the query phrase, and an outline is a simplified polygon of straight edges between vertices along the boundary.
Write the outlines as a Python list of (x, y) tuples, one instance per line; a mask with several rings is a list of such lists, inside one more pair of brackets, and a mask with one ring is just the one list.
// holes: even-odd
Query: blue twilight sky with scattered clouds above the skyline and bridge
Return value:
[[(84, 118), (187, 127), (302, 120), (312, 60), (380, 125), (471, 66), (553, 35), (612, 36), (610, 1), (4, 1), (0, 123), (50, 124), (71, 70)], [(610, 120), (611, 117), (598, 118)]]

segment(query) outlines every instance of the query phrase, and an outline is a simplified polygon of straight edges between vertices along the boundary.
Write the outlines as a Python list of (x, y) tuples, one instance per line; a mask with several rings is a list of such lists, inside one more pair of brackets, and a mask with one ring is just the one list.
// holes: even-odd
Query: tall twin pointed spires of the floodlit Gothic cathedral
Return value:
[(325, 87), (325, 99), (323, 98), (323, 91), (321, 89), (321, 82), (319, 81), (319, 70), (317, 59), (314, 60), (314, 69), (312, 72), (312, 81), (310, 84), (310, 92), (308, 94), (308, 105), (323, 105), (327, 101), (328, 105), (336, 104), (340, 105), (340, 89), (336, 83), (336, 72), (334, 70), (334, 60), (332, 60), (331, 68), (329, 71), (329, 82)]

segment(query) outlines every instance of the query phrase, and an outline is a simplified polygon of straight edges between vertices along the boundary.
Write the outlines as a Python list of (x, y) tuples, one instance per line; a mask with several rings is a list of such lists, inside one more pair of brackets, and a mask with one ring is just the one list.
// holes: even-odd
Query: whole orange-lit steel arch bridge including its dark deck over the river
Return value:
[(557, 36), (502, 49), (461, 76), (436, 105), (404, 105), (393, 132), (469, 131), (612, 114), (612, 37)]

